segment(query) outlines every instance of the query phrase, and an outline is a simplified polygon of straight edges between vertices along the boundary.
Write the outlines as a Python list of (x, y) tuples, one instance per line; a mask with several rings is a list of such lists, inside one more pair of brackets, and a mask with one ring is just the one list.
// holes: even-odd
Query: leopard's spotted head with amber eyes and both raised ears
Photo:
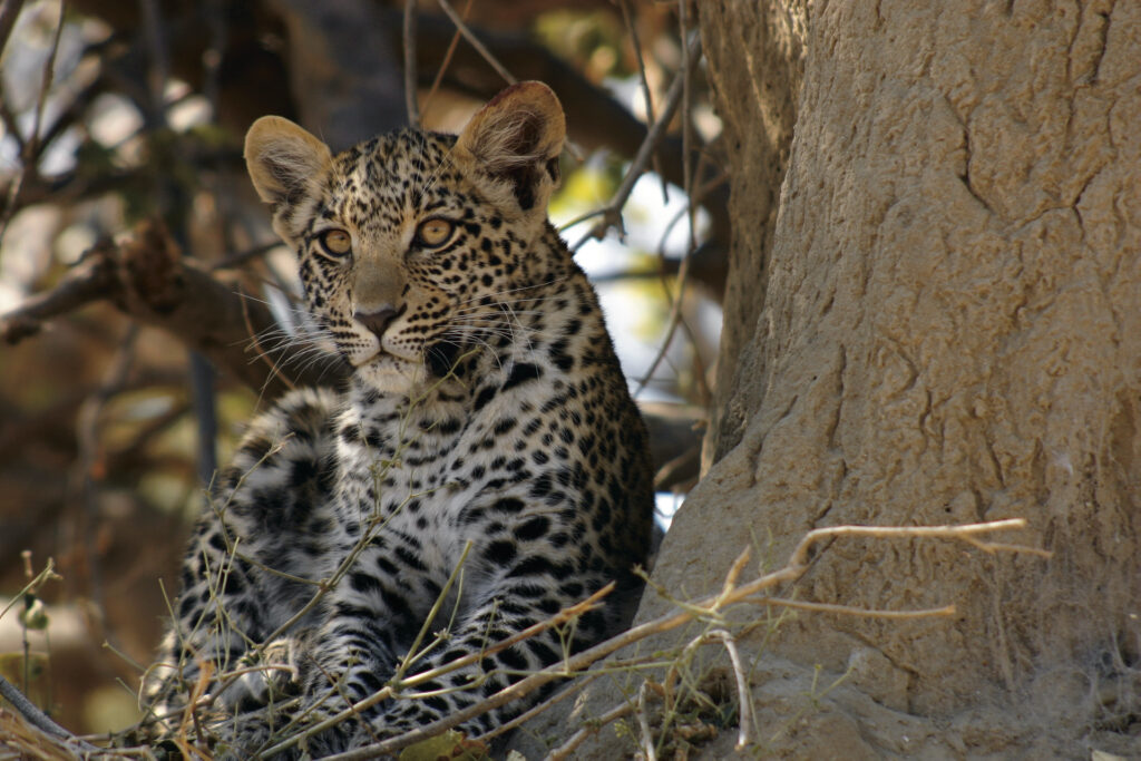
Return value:
[(402, 130), (337, 155), (264, 116), (245, 161), (317, 324), (361, 378), (408, 391), (480, 343), (497, 297), (542, 278), (535, 242), (565, 135), (555, 94), (523, 82), (458, 137)]

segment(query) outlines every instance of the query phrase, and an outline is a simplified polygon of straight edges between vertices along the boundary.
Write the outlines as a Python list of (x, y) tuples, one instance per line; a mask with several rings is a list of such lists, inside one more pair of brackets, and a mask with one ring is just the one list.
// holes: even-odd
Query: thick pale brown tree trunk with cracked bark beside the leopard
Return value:
[[(800, 27), (701, 3), (737, 152), (736, 285), (715, 463), (655, 581), (715, 590), (748, 536), (780, 561), (819, 526), (1025, 517), (1004, 539), (1051, 560), (836, 540), (799, 599), (957, 614), (785, 622), (754, 673), (766, 737), (845, 758), (1135, 752), (1141, 5), (926, 5), (820, 2)], [(767, 110), (794, 102), (774, 214), (750, 188), (782, 155)], [(648, 593), (639, 617), (666, 607)]]

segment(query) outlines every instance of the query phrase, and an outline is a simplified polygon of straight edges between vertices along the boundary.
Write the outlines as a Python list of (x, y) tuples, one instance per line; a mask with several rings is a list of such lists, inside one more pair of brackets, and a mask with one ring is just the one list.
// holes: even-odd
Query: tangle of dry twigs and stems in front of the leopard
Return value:
[[(224, 509), (224, 507), (219, 509)], [(881, 541), (938, 539), (965, 542), (984, 552), (1028, 552), (1049, 557), (1049, 553), (1042, 550), (1010, 543), (992, 542), (986, 539), (987, 535), (995, 532), (1022, 527), (1025, 527), (1025, 521), (1011, 519), (965, 526), (835, 526), (818, 528), (804, 535), (783, 567), (768, 573), (762, 572), (755, 577), (743, 580), (742, 577), (748, 574), (750, 566), (752, 565), (750, 562), (752, 551), (746, 548), (734, 561), (718, 593), (699, 600), (670, 600), (673, 607), (671, 613), (633, 626), (622, 634), (596, 645), (588, 650), (575, 654), (566, 651), (560, 663), (541, 671), (527, 674), (513, 674), (518, 681), (461, 712), (414, 731), (387, 738), (382, 742), (331, 758), (342, 761), (367, 759), (399, 753), (406, 748), (415, 748), (414, 752), (426, 753), (427, 755), (423, 758), (486, 758), (488, 751), (487, 743), (496, 736), (510, 731), (549, 709), (555, 703), (573, 696), (577, 689), (600, 677), (624, 679), (628, 685), (625, 699), (607, 711), (598, 721), (573, 734), (558, 746), (552, 747), (547, 755), (548, 759), (568, 758), (588, 736), (597, 734), (609, 722), (623, 720), (632, 720), (625, 729), (625, 734), (632, 740), (632, 750), (640, 758), (648, 760), (658, 758), (663, 751), (670, 751), (673, 758), (678, 758), (679, 755), (685, 758), (688, 748), (699, 745), (702, 740), (715, 736), (720, 729), (733, 724), (737, 727), (737, 750), (746, 747), (763, 748), (764, 738), (756, 737), (753, 731), (753, 705), (750, 691), (751, 678), (748, 675), (751, 664), (742, 661), (736, 648), (736, 638), (738, 635), (755, 631), (759, 628), (775, 629), (779, 626), (779, 612), (786, 609), (887, 620), (952, 616), (955, 614), (953, 605), (931, 609), (876, 610), (850, 607), (842, 604), (796, 600), (794, 594), (791, 593), (792, 588), (818, 556), (817, 545), (824, 544), (826, 550), (831, 542), (853, 536), (873, 537)], [(358, 549), (365, 547), (372, 534), (381, 529), (382, 525), (380, 524), (371, 526), (362, 535), (361, 542), (357, 545)], [(236, 548), (234, 551), (237, 551)], [(345, 573), (351, 566), (354, 557), (355, 553), (346, 558), (342, 566), (338, 569), (338, 574)], [(227, 568), (217, 568), (213, 572), (217, 573), (216, 586), (222, 584)], [(49, 574), (50, 569), (47, 569), (37, 578), (35, 584), (42, 583)], [(573, 628), (575, 618), (578, 615), (582, 615), (597, 605), (605, 605), (605, 597), (610, 591), (610, 588), (600, 590), (578, 605), (564, 609), (549, 620), (535, 624), (508, 640), (489, 645), (480, 653), (458, 658), (431, 671), (415, 672), (415, 662), (446, 640), (448, 626), (443, 625), (436, 629), (446, 615), (438, 618), (437, 616), (440, 613), (446, 614), (446, 610), (442, 609), (444, 598), (451, 585), (453, 583), (462, 584), (462, 580), (463, 564), (461, 559), (460, 565), (455, 568), (447, 585), (442, 591), (432, 613), (426, 621), (420, 637), (418, 637), (412, 649), (405, 657), (403, 662), (405, 666), (398, 670), (383, 689), (346, 709), (326, 720), (326, 722), (313, 726), (294, 726), (293, 723), (284, 726), (270, 740), (269, 745), (262, 750), (262, 754), (270, 756), (292, 748), (298, 744), (304, 744), (306, 737), (321, 731), (332, 723), (345, 721), (351, 718), (354, 713), (364, 711), (378, 703), (385, 701), (423, 699), (430, 694), (418, 693), (416, 688), (420, 685), (476, 663), (486, 655), (492, 655), (548, 629)], [(316, 605), (335, 582), (335, 574), (330, 580), (313, 580), (311, 584), (315, 591), (306, 609)], [(782, 590), (784, 590), (784, 593), (780, 593)], [(658, 593), (664, 593), (662, 590), (657, 591)], [(743, 609), (745, 610), (744, 615), (742, 615)], [(774, 612), (777, 615), (774, 615)], [(294, 621), (300, 618), (300, 615)], [(283, 624), (281, 631), (288, 630), (292, 624), (292, 621)], [(696, 633), (689, 638), (683, 647), (665, 651), (653, 651), (650, 654), (638, 653), (637, 645), (642, 640), (685, 625), (691, 625), (696, 630)], [(269, 639), (272, 640), (273, 638)], [(715, 674), (698, 667), (695, 653), (698, 648), (705, 646), (725, 648), (731, 664), (730, 674)], [(140, 734), (146, 734), (147, 730), (145, 727), (151, 722), (165, 721), (169, 727), (173, 728), (172, 731), (168, 732), (165, 742), (177, 747), (184, 758), (211, 758), (211, 726), (215, 721), (224, 721), (224, 719), (219, 720), (212, 717), (212, 699), (209, 695), (203, 694), (205, 683), (211, 678), (217, 678), (219, 681), (218, 690), (220, 691), (250, 669), (280, 667), (272, 663), (260, 665), (265, 663), (261, 659), (264, 655), (261, 653), (262, 649), (260, 647), (254, 648), (243, 658), (241, 664), (205, 664), (201, 670), (200, 681), (195, 685), (186, 686), (187, 704), (183, 711), (173, 715), (149, 715), (144, 718), (139, 727), (113, 737), (111, 744), (111, 748), (113, 750), (108, 752), (112, 755), (123, 756), (147, 755), (152, 752), (151, 748), (146, 746), (132, 746), (132, 743), (137, 742), (137, 737)], [(176, 665), (177, 667), (177, 664), (171, 665)], [(719, 677), (727, 680), (729, 686), (722, 685), (719, 687), (717, 685)], [(564, 686), (552, 697), (539, 703), (509, 724), (500, 727), (485, 736), (467, 738), (459, 732), (450, 731), (453, 727), (475, 715), (479, 715), (507, 702), (520, 699), (552, 682), (563, 682), (566, 680), (570, 680), (569, 683)], [(470, 687), (463, 689), (476, 689), (479, 683), (479, 680), (476, 680)], [(0, 727), (7, 732), (6, 742), (10, 743), (13, 748), (21, 752), (34, 752), (34, 754), (42, 755), (42, 758), (79, 758), (98, 751), (87, 739), (75, 737), (58, 727), (34, 705), (23, 698), (18, 691), (14, 690), (2, 678), (0, 678), (0, 687), (3, 688), (5, 696), (13, 699), (13, 707), (16, 712), (15, 714), (0, 714)], [(822, 687), (819, 691), (814, 689), (809, 698), (811, 701), (818, 699), (828, 689), (831, 687)], [(790, 721), (794, 720), (795, 717)]]

